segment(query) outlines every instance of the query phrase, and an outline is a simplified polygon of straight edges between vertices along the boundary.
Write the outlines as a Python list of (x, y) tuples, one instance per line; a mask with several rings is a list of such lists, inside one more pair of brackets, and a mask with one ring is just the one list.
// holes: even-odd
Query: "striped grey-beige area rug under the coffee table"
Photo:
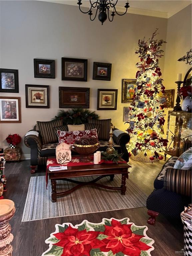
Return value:
[[(93, 178), (74, 179), (87, 182)], [(115, 175), (113, 181), (110, 181), (109, 177), (105, 177), (99, 183), (120, 187), (121, 175)], [(72, 187), (74, 187), (74, 183), (57, 181), (57, 192)], [(22, 221), (146, 206), (147, 196), (134, 183), (127, 180), (126, 187), (126, 195), (121, 195), (121, 192), (117, 190), (84, 186), (69, 195), (58, 197), (57, 202), (52, 203), (50, 181), (46, 189), (45, 176), (31, 177)]]

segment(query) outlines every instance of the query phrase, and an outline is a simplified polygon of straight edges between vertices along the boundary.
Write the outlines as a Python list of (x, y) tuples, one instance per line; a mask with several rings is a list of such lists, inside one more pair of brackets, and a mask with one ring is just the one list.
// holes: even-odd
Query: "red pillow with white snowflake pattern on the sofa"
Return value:
[(98, 138), (97, 129), (71, 132), (57, 131), (57, 134), (59, 135), (59, 143), (65, 142), (68, 145), (73, 144), (76, 140), (79, 140), (82, 137)]

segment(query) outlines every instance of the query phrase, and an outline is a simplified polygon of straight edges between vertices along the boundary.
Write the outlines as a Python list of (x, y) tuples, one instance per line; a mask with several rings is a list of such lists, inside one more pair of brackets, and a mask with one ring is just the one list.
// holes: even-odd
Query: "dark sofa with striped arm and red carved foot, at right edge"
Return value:
[(191, 203), (191, 169), (174, 169), (177, 159), (172, 156), (164, 164), (154, 181), (154, 190), (147, 198), (148, 223), (151, 225), (155, 224), (159, 213), (180, 219), (184, 206)]

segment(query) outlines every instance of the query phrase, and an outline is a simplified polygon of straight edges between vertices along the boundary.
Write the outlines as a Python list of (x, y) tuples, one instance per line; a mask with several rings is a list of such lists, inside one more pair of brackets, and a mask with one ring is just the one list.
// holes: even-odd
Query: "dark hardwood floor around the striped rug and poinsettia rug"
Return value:
[[(150, 194), (153, 190), (154, 178), (160, 172), (162, 164), (164, 161), (154, 164), (130, 161), (132, 168), (129, 168), (131, 171), (129, 178), (139, 185), (144, 193)], [(5, 166), (8, 190), (4, 193), (4, 197), (13, 200), (16, 206), (15, 216), (10, 221), (14, 235), (13, 256), (41, 256), (48, 249), (48, 245), (44, 241), (50, 233), (55, 231), (57, 223), (71, 222), (75, 225), (84, 219), (101, 222), (102, 218), (111, 217), (117, 219), (128, 217), (136, 225), (147, 225), (147, 235), (155, 240), (155, 250), (151, 252), (152, 256), (177, 255), (175, 251), (180, 251), (183, 248), (181, 222), (159, 215), (156, 225), (150, 226), (146, 222), (148, 219), (146, 207), (21, 222), (29, 181), (32, 176), (29, 165), (29, 160), (24, 160), (19, 163), (6, 163)], [(45, 173), (34, 175), (45, 175)]]

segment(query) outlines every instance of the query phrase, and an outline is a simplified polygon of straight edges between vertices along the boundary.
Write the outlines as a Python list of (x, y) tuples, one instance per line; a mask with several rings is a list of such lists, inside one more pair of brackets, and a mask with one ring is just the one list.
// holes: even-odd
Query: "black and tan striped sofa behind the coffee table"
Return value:
[[(46, 166), (47, 158), (55, 156), (55, 148), (58, 144), (58, 137), (56, 135), (56, 128), (68, 129), (67, 126), (62, 124), (62, 120), (55, 120), (49, 122), (39, 122), (35, 125), (33, 130), (26, 133), (24, 143), (31, 149), (31, 173), (35, 173), (36, 169), (40, 169), (41, 166)], [(99, 129), (98, 129), (99, 127)], [(100, 142), (100, 151), (103, 151), (108, 146), (109, 131), (111, 129), (111, 119), (102, 120), (89, 120), (85, 124), (85, 129), (97, 128), (98, 139)], [(126, 144), (129, 142), (130, 136), (119, 129), (113, 129), (113, 147), (118, 152), (123, 153), (123, 159), (129, 161), (129, 156), (126, 148)], [(73, 154), (73, 152), (72, 152)]]

